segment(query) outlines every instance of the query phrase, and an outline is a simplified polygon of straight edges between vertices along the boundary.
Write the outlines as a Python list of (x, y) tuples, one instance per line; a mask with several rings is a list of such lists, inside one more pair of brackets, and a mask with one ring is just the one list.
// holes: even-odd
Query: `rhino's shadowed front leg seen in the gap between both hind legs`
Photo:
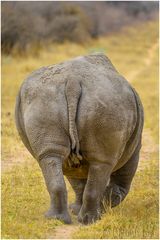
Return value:
[(71, 203), (69, 205), (69, 208), (71, 209), (71, 212), (75, 215), (78, 215), (81, 206), (82, 206), (82, 198), (83, 198), (83, 192), (86, 185), (86, 179), (75, 179), (71, 177), (67, 177), (69, 183), (71, 184), (75, 194), (76, 194), (76, 200), (74, 203)]

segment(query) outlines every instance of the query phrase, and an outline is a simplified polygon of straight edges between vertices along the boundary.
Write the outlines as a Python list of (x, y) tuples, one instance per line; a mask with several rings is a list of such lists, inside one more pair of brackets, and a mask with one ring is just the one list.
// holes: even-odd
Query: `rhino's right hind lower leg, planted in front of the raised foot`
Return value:
[(83, 203), (78, 214), (79, 222), (91, 224), (101, 218), (101, 201), (112, 167), (110, 162), (90, 162)]

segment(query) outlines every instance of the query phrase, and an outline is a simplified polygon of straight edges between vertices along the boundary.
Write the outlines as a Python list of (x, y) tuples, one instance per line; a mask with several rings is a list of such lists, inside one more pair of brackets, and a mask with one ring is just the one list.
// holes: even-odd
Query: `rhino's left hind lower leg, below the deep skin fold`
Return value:
[(71, 217), (67, 209), (67, 191), (63, 178), (61, 159), (58, 157), (46, 157), (40, 160), (48, 192), (50, 194), (51, 206), (45, 216), (62, 220), (69, 224)]

